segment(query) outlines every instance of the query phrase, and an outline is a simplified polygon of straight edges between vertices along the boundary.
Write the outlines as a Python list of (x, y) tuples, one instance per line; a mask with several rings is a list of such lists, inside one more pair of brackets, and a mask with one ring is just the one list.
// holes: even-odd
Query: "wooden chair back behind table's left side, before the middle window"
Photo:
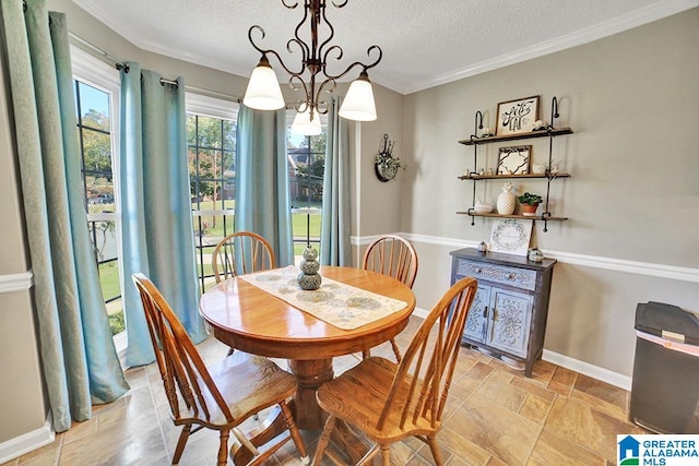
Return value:
[(237, 231), (218, 241), (211, 258), (216, 283), (237, 275), (274, 268), (274, 250), (252, 231)]

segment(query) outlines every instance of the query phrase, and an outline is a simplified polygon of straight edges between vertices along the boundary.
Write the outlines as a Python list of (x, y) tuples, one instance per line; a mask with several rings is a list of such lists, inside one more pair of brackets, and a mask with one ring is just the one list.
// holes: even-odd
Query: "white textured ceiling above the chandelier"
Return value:
[[(248, 28), (262, 26), (260, 44), (285, 55), (303, 16), (298, 1), (287, 10), (281, 0), (73, 0), (144, 50), (242, 76), (259, 60)], [(367, 61), (377, 44), (383, 59), (371, 80), (408, 94), (696, 7), (699, 0), (348, 0), (336, 9), (328, 0), (327, 16), (344, 49), (341, 65)], [(298, 53), (285, 61), (297, 68)]]

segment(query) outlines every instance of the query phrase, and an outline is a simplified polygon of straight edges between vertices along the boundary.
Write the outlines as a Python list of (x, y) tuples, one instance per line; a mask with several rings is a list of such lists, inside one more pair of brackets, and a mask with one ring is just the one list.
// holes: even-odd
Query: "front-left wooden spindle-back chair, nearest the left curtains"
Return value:
[[(155, 285), (141, 273), (133, 274), (132, 279), (143, 302), (170, 416), (175, 426), (182, 426), (173, 464), (179, 463), (190, 433), (203, 428), (220, 432), (220, 466), (227, 464), (232, 432), (239, 442), (230, 450), (236, 465), (262, 464), (289, 439), (296, 444), (301, 461), (307, 462), (306, 446), (286, 405), (296, 393), (296, 378), (266, 358), (242, 351), (206, 368)], [(256, 413), (275, 405), (281, 409), (287, 431), (264, 447), (257, 441), (253, 444), (239, 426)]]

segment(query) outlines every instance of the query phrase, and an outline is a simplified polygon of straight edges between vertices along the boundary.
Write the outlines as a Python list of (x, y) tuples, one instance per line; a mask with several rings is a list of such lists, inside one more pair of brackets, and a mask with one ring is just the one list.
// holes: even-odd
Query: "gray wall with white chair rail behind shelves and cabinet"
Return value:
[[(401, 229), (418, 243), (418, 306), (428, 308), (448, 286), (448, 252), (460, 241), (487, 240), (493, 226), (486, 218), (471, 226), (469, 217), (455, 215), (472, 205), (471, 181), (457, 176), (473, 168), (473, 147), (457, 141), (473, 132), (475, 111), (484, 111), (493, 128), (499, 101), (540, 95), (542, 119), (549, 120), (557, 96), (556, 124), (574, 133), (554, 140), (554, 158), (572, 177), (552, 183), (552, 211), (570, 219), (549, 223), (548, 232), (536, 223), (533, 235), (535, 244), (561, 261), (545, 347), (631, 375), (638, 302), (699, 311), (697, 44), (694, 9), (406, 96), (403, 146), (416, 169), (402, 184)], [(517, 144), (532, 144), (534, 160), (542, 162), (547, 143), (481, 146), (479, 166), (484, 154), (493, 167), (498, 146)], [(478, 195), (495, 202), (500, 184), (481, 181)], [(514, 184), (519, 193), (546, 189), (540, 180)], [(684, 278), (663, 278), (674, 267)]]

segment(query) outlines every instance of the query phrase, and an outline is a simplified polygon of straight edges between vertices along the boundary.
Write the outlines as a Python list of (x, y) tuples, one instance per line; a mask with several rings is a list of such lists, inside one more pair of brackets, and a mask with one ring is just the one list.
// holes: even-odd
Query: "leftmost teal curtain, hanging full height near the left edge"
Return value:
[[(68, 26), (45, 0), (1, 0), (38, 345), (58, 432), (129, 386), (100, 294), (75, 133)], [(50, 16), (50, 21), (49, 21)]]

